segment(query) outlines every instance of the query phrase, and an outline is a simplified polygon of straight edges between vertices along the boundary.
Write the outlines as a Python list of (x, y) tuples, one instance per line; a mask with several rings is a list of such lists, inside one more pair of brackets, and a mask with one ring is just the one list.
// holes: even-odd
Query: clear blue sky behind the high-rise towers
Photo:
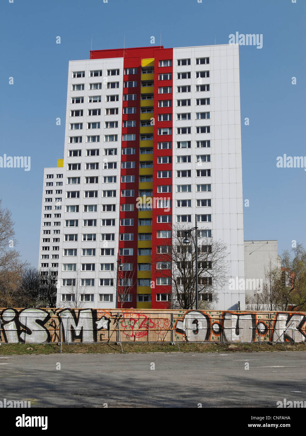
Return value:
[(305, 12), (305, 0), (2, 0), (0, 156), (31, 156), (31, 170), (0, 168), (0, 198), (23, 259), (38, 266), (43, 170), (63, 157), (69, 60), (88, 59), (92, 37), (93, 50), (121, 48), (124, 35), (141, 47), (151, 36), (159, 45), (161, 31), (165, 48), (263, 35), (261, 49), (240, 47), (244, 239), (277, 239), (279, 253), (306, 245), (306, 171), (276, 167), (284, 153), (306, 156)]

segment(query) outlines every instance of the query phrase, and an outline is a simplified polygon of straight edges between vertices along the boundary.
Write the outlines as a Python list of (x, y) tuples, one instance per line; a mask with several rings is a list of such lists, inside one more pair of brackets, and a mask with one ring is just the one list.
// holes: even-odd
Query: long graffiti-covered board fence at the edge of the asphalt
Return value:
[[(173, 323), (173, 324), (172, 324)], [(306, 342), (306, 313), (0, 309), (0, 342)]]

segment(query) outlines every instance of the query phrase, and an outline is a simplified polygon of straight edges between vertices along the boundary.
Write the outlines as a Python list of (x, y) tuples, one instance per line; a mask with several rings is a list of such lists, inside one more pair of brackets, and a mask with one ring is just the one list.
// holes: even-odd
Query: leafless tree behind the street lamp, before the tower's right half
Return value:
[[(193, 236), (189, 244), (183, 241), (186, 232)], [(227, 247), (221, 241), (202, 237), (198, 229), (198, 297), (199, 308), (206, 309), (217, 302), (217, 289), (227, 282)], [(172, 226), (172, 245), (161, 246), (155, 268), (172, 283), (172, 308), (193, 309), (196, 300), (196, 251), (193, 244), (195, 230), (182, 225)], [(167, 282), (166, 282), (167, 283)]]

